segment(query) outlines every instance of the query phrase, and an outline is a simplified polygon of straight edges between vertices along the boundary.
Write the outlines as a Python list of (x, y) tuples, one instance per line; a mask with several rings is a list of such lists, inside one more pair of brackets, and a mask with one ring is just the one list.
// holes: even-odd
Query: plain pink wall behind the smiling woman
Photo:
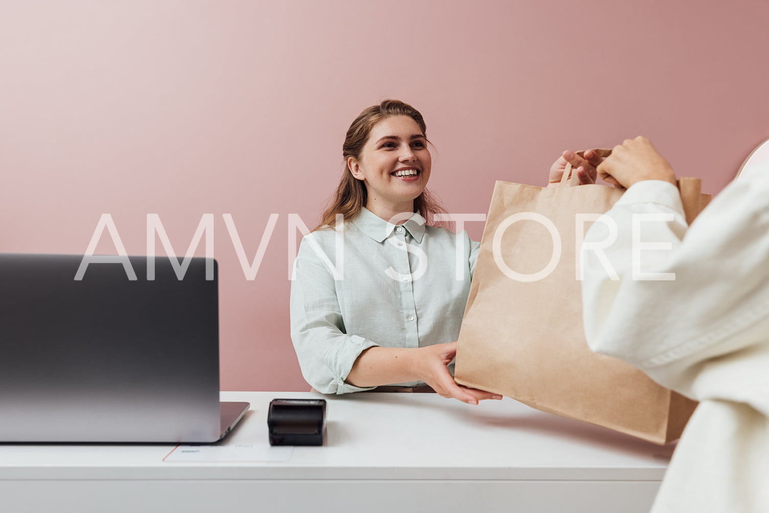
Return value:
[[(142, 254), (157, 213), (183, 253), (213, 213), (222, 388), (305, 390), (288, 214), (315, 222), (362, 108), (421, 110), (450, 212), (639, 134), (718, 192), (769, 136), (767, 19), (765, 0), (2, 2), (0, 251), (84, 252), (110, 213)], [(225, 213), (249, 259), (279, 215), (254, 281)]]

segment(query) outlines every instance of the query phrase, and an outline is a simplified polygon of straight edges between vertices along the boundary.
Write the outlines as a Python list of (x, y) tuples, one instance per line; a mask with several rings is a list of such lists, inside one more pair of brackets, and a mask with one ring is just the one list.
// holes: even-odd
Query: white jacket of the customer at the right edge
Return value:
[[(701, 401), (652, 511), (769, 511), (769, 168), (724, 188), (691, 227), (667, 182), (633, 185), (607, 215), (616, 242), (584, 255), (588, 345)], [(611, 240), (610, 224), (585, 243)]]

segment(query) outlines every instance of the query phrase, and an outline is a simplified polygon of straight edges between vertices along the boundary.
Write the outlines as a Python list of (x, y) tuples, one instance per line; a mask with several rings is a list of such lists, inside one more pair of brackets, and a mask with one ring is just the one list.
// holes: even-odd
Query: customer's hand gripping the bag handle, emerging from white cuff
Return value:
[(642, 180), (662, 180), (676, 185), (671, 165), (641, 135), (614, 146), (611, 155), (598, 165), (598, 175), (606, 182), (624, 188)]

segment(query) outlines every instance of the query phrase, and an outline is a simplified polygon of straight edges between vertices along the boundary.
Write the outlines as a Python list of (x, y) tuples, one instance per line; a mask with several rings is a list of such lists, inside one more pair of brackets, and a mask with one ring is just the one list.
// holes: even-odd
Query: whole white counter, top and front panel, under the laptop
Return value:
[[(648, 511), (674, 445), (435, 394), (222, 392), (223, 443), (266, 442), (273, 398), (325, 398), (288, 461), (163, 461), (173, 445), (0, 445), (0, 511)], [(52, 421), (55, 419), (52, 418)]]

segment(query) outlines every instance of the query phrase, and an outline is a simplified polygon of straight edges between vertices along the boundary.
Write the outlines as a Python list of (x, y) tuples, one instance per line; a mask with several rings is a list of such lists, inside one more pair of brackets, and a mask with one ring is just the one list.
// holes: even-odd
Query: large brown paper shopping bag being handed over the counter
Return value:
[[(568, 170), (564, 182), (567, 176)], [(709, 200), (700, 185), (698, 178), (679, 180), (687, 222)], [(624, 361), (595, 354), (584, 338), (576, 214), (602, 214), (623, 192), (604, 185), (541, 188), (497, 182), (459, 333), (454, 378), (541, 411), (667, 444), (681, 436), (697, 403)], [(511, 222), (509, 216), (524, 212), (549, 219), (561, 238), (558, 264), (534, 281), (509, 273), (530, 275), (526, 279), (540, 271), (544, 275), (548, 262), (553, 264), (555, 243), (541, 222)], [(584, 223), (584, 231), (589, 225)], [(503, 235), (495, 239), (498, 232)], [(508, 275), (494, 259), (495, 244)]]

